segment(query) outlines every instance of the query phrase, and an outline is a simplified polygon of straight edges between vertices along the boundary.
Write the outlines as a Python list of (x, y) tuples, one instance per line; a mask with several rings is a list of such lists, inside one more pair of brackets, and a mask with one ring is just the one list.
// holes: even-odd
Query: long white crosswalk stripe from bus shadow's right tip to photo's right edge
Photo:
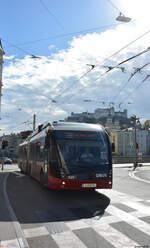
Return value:
[(150, 234), (150, 225), (148, 225), (142, 220), (139, 220), (135, 216), (128, 214), (124, 212), (123, 210), (120, 210), (114, 206), (109, 206), (107, 211), (110, 214), (117, 216), (120, 220), (123, 220), (127, 222), (128, 224), (132, 225), (133, 227), (139, 229), (141, 232), (144, 232), (147, 235)]

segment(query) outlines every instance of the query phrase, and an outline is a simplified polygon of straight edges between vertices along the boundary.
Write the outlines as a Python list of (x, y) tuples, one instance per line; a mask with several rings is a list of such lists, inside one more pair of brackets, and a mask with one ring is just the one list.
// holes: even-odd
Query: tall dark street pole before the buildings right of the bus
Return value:
[(135, 170), (136, 167), (138, 166), (136, 131), (137, 131), (137, 122), (139, 122), (139, 118), (136, 117), (136, 115), (133, 115), (131, 117), (131, 121), (133, 122), (133, 125), (134, 125), (134, 153), (135, 153), (135, 160), (134, 160), (133, 169)]

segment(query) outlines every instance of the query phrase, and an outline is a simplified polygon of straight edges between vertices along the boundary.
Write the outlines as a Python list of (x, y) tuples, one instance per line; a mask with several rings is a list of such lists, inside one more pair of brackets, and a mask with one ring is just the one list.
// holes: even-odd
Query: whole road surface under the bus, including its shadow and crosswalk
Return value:
[(114, 166), (113, 190), (55, 192), (0, 172), (0, 247), (150, 247), (150, 166)]

